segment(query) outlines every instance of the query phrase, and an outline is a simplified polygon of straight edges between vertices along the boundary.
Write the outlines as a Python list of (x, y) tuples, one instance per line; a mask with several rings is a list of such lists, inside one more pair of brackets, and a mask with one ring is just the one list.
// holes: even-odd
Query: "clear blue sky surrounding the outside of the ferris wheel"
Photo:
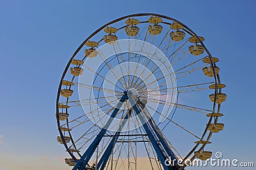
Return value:
[(210, 148), (227, 159), (256, 164), (255, 5), (253, 0), (1, 0), (0, 169), (70, 169), (63, 162), (64, 147), (56, 142), (54, 117), (63, 70), (95, 29), (143, 12), (177, 18), (204, 36), (220, 58), (228, 96), (221, 107), (225, 131), (213, 136)]

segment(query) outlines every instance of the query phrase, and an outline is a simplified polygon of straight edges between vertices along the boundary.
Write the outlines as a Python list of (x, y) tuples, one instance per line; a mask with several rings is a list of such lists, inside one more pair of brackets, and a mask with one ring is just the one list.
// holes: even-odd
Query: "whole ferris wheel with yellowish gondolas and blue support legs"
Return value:
[(61, 77), (60, 136), (73, 169), (184, 169), (207, 160), (227, 95), (217, 57), (174, 18), (139, 13), (93, 32)]

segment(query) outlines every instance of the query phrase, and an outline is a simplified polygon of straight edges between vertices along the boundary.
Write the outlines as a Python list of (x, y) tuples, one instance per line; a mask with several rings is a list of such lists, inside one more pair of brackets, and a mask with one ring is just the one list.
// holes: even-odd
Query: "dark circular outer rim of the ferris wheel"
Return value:
[[(164, 18), (164, 19), (173, 21), (173, 22), (177, 22), (177, 23), (179, 23), (180, 25), (182, 25), (182, 26), (184, 27), (184, 29), (182, 29), (183, 31), (187, 32), (187, 33), (188, 33), (189, 35), (191, 35), (191, 36), (196, 36), (196, 38), (199, 39), (200, 44), (201, 44), (202, 46), (204, 46), (205, 52), (207, 53), (209, 59), (211, 60), (211, 63), (210, 63), (211, 67), (215, 67), (215, 66), (216, 66), (216, 64), (215, 64), (214, 62), (212, 62), (212, 55), (211, 55), (211, 53), (210, 53), (209, 50), (206, 48), (206, 46), (205, 46), (204, 43), (201, 41), (201, 39), (196, 35), (196, 33), (193, 32), (191, 29), (189, 29), (188, 26), (186, 26), (185, 24), (183, 24), (182, 22), (180, 22), (179, 20), (176, 20), (176, 19), (174, 19), (174, 18), (167, 17), (167, 16), (165, 16), (165, 15), (156, 14), (156, 13), (138, 13), (138, 14), (126, 15), (126, 16), (124, 16), (124, 17), (120, 17), (120, 18), (117, 18), (116, 20), (113, 20), (113, 21), (111, 21), (111, 22), (108, 22), (108, 23), (105, 24), (105, 25), (102, 25), (102, 27), (100, 27), (99, 29), (97, 29), (97, 30), (96, 30), (95, 32), (93, 32), (92, 34), (90, 34), (90, 36), (88, 36), (88, 38), (86, 38), (86, 39), (83, 41), (83, 43), (81, 43), (81, 45), (77, 48), (77, 50), (74, 52), (74, 54), (72, 55), (72, 57), (71, 57), (70, 60), (68, 61), (68, 64), (67, 64), (67, 66), (65, 67), (65, 70), (63, 71), (63, 74), (62, 74), (61, 80), (60, 80), (60, 84), (59, 84), (59, 87), (58, 87), (58, 92), (57, 92), (57, 98), (56, 98), (56, 119), (57, 119), (57, 124), (58, 124), (58, 131), (60, 132), (60, 136), (61, 136), (61, 139), (62, 139), (62, 141), (63, 141), (63, 145), (65, 146), (67, 152), (68, 152), (69, 155), (72, 157), (72, 159), (74, 159), (76, 162), (77, 162), (76, 157), (75, 157), (75, 156), (73, 155), (73, 153), (68, 149), (67, 143), (65, 143), (65, 139), (64, 139), (64, 136), (63, 136), (63, 132), (61, 131), (61, 128), (60, 128), (61, 125), (60, 125), (60, 118), (59, 118), (59, 113), (60, 113), (60, 108), (59, 108), (59, 103), (60, 103), (60, 91), (61, 91), (61, 87), (62, 87), (62, 82), (63, 82), (63, 80), (64, 80), (64, 78), (65, 78), (65, 75), (67, 74), (68, 68), (70, 67), (70, 64), (71, 64), (72, 60), (74, 59), (74, 57), (75, 57), (75, 56), (77, 55), (77, 53), (81, 50), (81, 48), (83, 48), (83, 46), (85, 45), (85, 43), (86, 43), (89, 39), (91, 39), (93, 36), (95, 36), (95, 34), (97, 34), (98, 32), (102, 31), (104, 28), (106, 28), (108, 25), (114, 24), (114, 23), (116, 23), (116, 22), (119, 22), (119, 21), (121, 21), (121, 20), (124, 20), (124, 19), (126, 19), (126, 18), (130, 18), (130, 17), (145, 17), (145, 16), (161, 17), (161, 18)], [(163, 23), (163, 24), (170, 25), (170, 23), (168, 23), (168, 22), (162, 22), (162, 23)], [(121, 27), (120, 29), (123, 29), (123, 28), (124, 28), (124, 27)], [(101, 39), (100, 41), (102, 41), (102, 39)], [(85, 59), (85, 58), (86, 58), (86, 57), (84, 57), (84, 59)], [(84, 59), (83, 59), (83, 60), (84, 60)], [(214, 69), (212, 69), (212, 70), (213, 70), (213, 73), (214, 73), (214, 81), (215, 81), (214, 102), (213, 102), (212, 110), (213, 110), (214, 112), (216, 112), (216, 113), (220, 113), (220, 106), (221, 106), (221, 104), (217, 104), (217, 103), (216, 103), (217, 94), (218, 94), (218, 93), (221, 93), (221, 89), (218, 89), (218, 87), (217, 87), (217, 84), (218, 84), (218, 83), (221, 83), (221, 81), (220, 81), (220, 74), (216, 74), (215, 71), (214, 71)], [(74, 80), (74, 76), (73, 76), (72, 80)], [(68, 98), (67, 98), (67, 102), (68, 102)], [(206, 127), (205, 127), (205, 130), (204, 130), (204, 133), (203, 133), (203, 135), (202, 135), (201, 140), (202, 140), (203, 138), (205, 138), (205, 135), (207, 134), (207, 129), (208, 129), (208, 127), (209, 127), (209, 124), (211, 124), (211, 122), (212, 122), (212, 118), (213, 118), (212, 116), (209, 118), (209, 122), (207, 123), (207, 125), (206, 125)], [(215, 118), (214, 122), (215, 122), (215, 123), (218, 122), (218, 117)], [(69, 133), (69, 135), (70, 135), (70, 138), (71, 138), (72, 143), (74, 143), (74, 140), (73, 140), (73, 138), (72, 138), (72, 134), (71, 134), (70, 132), (68, 132), (68, 133)], [(208, 134), (208, 136), (207, 136), (207, 138), (206, 138), (206, 141), (209, 141), (209, 139), (211, 138), (211, 136), (212, 136), (212, 132), (209, 132), (209, 134)], [(194, 146), (194, 148), (192, 148), (192, 150), (188, 153), (188, 155), (187, 155), (186, 157), (184, 157), (184, 160), (188, 159), (189, 156), (191, 156), (191, 154), (196, 150), (196, 148), (198, 148), (199, 145), (200, 145), (199, 143), (196, 144), (196, 145)], [(205, 145), (206, 145), (206, 144), (202, 145), (199, 150), (202, 150)], [(81, 154), (79, 153), (79, 155), (81, 155)], [(193, 155), (193, 157), (191, 157), (191, 160), (193, 160), (193, 159), (195, 159), (195, 155)], [(184, 166), (184, 167), (186, 167), (186, 166)], [(182, 168), (184, 168), (184, 167), (182, 167)]]

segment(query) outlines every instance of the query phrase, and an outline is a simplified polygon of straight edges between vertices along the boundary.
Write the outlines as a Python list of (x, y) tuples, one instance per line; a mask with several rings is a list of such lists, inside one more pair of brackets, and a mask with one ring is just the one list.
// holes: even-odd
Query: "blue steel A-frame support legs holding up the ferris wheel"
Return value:
[[(76, 166), (72, 170), (84, 170), (85, 167), (87, 166), (89, 160), (92, 158), (93, 153), (95, 152), (97, 146), (99, 145), (100, 141), (106, 134), (106, 131), (113, 122), (113, 118), (116, 117), (116, 114), (120, 110), (122, 104), (124, 103), (125, 100), (129, 99), (129, 102), (132, 104), (132, 108), (135, 111), (136, 115), (138, 115), (139, 119), (141, 122), (145, 122), (143, 124), (143, 129), (145, 129), (145, 132), (147, 133), (147, 136), (150, 140), (150, 143), (152, 143), (152, 146), (154, 150), (156, 151), (157, 157), (160, 160), (163, 169), (164, 170), (177, 170), (179, 169), (179, 166), (177, 165), (177, 162), (175, 162), (175, 165), (171, 166), (166, 166), (165, 162), (166, 160), (170, 157), (172, 160), (177, 159), (175, 154), (172, 152), (170, 146), (166, 142), (166, 139), (164, 138), (162, 132), (160, 129), (157, 128), (156, 123), (154, 120), (150, 117), (150, 115), (146, 111), (140, 110), (136, 104), (140, 104), (143, 108), (145, 108), (145, 105), (138, 101), (138, 103), (135, 103), (134, 100), (132, 99), (132, 91), (128, 90), (124, 92), (124, 95), (120, 99), (119, 103), (116, 105), (115, 110), (111, 114), (111, 117), (109, 118), (108, 122), (104, 127), (100, 130), (99, 134), (97, 137), (93, 140), (92, 144), (87, 148), (86, 152), (82, 155), (81, 159), (77, 162)], [(121, 124), (118, 127), (118, 131), (115, 132), (115, 135), (111, 139), (108, 147), (106, 148), (105, 152), (103, 153), (102, 157), (100, 158), (98, 164), (97, 164), (97, 169), (100, 168), (100, 170), (104, 170), (106, 167), (106, 164), (108, 163), (109, 157), (111, 155), (111, 152), (113, 150), (113, 147), (115, 146), (116, 139), (118, 139), (118, 136), (120, 136), (120, 131), (124, 127), (124, 125), (127, 122), (127, 119), (131, 115), (131, 110), (129, 110), (129, 113), (127, 113), (124, 117), (124, 120), (122, 120)], [(145, 121), (145, 120), (148, 120)]]

